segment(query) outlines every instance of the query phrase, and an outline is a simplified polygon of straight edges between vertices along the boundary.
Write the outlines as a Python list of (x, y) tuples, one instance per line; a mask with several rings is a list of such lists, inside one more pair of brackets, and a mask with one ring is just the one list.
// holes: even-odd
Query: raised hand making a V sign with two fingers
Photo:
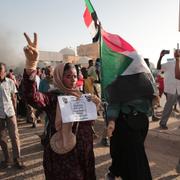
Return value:
[(26, 69), (36, 69), (38, 60), (38, 48), (37, 48), (37, 34), (34, 33), (33, 42), (29, 36), (24, 33), (28, 45), (24, 47), (24, 53), (26, 56)]

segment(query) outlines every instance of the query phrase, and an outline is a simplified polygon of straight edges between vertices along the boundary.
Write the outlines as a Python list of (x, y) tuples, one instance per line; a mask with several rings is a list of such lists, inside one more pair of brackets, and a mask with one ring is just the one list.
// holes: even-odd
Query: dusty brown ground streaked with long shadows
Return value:
[[(150, 130), (145, 146), (154, 180), (180, 180), (180, 175), (175, 171), (180, 155), (180, 120), (178, 119), (180, 117), (177, 114), (172, 114), (167, 131), (161, 131), (158, 128), (158, 122), (150, 120)], [(0, 179), (43, 180), (42, 147), (38, 137), (43, 130), (42, 124), (39, 124), (36, 129), (31, 128), (31, 124), (27, 124), (23, 119), (19, 119), (18, 124), (22, 156), (27, 167), (25, 170), (15, 168), (0, 170)], [(103, 127), (103, 119), (99, 118), (95, 125), (99, 138), (94, 142), (97, 180), (104, 179), (104, 174), (111, 162), (109, 148), (100, 144)], [(1, 150), (0, 159), (2, 159)]]

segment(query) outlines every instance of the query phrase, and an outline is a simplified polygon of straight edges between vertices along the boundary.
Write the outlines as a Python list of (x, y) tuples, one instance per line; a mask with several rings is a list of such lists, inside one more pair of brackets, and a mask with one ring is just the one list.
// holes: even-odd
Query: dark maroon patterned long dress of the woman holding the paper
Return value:
[[(56, 132), (55, 116), (57, 96), (62, 93), (52, 91), (40, 93), (36, 89), (35, 71), (28, 75), (24, 71), (23, 75), (23, 94), (25, 99), (33, 107), (46, 112), (49, 125), (46, 145), (44, 146), (43, 166), (46, 179), (53, 180), (95, 180), (95, 159), (93, 152), (93, 132), (91, 121), (80, 122), (76, 134), (75, 148), (60, 155), (55, 153), (49, 144), (50, 137)], [(73, 125), (75, 132), (76, 123)]]

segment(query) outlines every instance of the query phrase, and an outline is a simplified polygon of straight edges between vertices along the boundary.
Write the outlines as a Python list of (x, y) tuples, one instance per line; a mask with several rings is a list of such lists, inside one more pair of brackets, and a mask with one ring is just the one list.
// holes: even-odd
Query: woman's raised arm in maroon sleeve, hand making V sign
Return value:
[(49, 102), (49, 96), (37, 90), (36, 67), (38, 63), (37, 34), (34, 33), (34, 40), (24, 33), (28, 45), (24, 47), (26, 65), (23, 74), (23, 95), (27, 102), (35, 108), (44, 108)]

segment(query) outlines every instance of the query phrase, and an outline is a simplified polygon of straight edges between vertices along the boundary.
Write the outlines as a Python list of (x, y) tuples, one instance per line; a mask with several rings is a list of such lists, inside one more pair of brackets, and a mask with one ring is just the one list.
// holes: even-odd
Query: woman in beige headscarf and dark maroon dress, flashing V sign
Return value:
[[(53, 74), (55, 89), (40, 93), (35, 83), (37, 35), (34, 34), (34, 42), (26, 33), (24, 35), (28, 42), (24, 48), (24, 96), (33, 107), (45, 111), (49, 119), (43, 157), (45, 177), (47, 180), (95, 180), (92, 121), (62, 123), (58, 101), (58, 97), (63, 95), (80, 98), (81, 93), (76, 89), (76, 68), (70, 63), (57, 65)], [(91, 100), (96, 104), (100, 102), (95, 96)]]

